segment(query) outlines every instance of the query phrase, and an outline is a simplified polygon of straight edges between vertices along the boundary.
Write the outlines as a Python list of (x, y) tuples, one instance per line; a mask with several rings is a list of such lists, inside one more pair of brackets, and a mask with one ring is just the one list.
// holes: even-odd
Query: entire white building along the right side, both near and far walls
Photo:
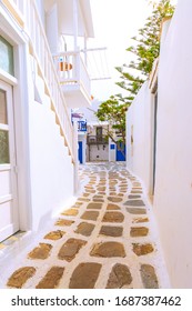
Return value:
[(159, 64), (128, 111), (128, 168), (152, 199), (173, 288), (192, 287), (192, 2), (163, 27)]

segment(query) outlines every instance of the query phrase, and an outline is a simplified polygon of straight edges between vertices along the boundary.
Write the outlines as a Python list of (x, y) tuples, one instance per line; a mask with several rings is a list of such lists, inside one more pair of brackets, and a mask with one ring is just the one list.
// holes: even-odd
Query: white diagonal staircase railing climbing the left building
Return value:
[[(68, 113), (68, 108), (57, 74), (52, 54), (44, 33), (44, 29), (39, 17), (36, 1), (28, 0), (3, 0), (7, 8), (14, 7), (21, 13), (24, 20), (24, 31), (29, 37), (30, 53), (34, 57), (38, 64), (38, 73), (44, 81), (46, 92), (51, 99), (51, 109), (55, 113), (57, 123), (60, 126), (60, 132), (64, 138), (64, 143), (69, 149), (69, 154), (74, 163), (77, 148), (74, 147), (73, 128)], [(13, 11), (12, 9), (12, 11)], [(11, 11), (10, 11), (11, 12)], [(16, 18), (16, 17), (14, 17)]]

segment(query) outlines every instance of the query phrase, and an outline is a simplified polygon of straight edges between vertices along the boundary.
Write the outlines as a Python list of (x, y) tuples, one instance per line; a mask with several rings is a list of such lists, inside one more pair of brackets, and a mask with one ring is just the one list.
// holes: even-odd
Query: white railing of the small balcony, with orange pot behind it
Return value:
[(65, 91), (71, 86), (79, 86), (88, 97), (91, 96), (91, 81), (80, 51), (61, 52), (53, 56), (53, 60), (60, 83)]

